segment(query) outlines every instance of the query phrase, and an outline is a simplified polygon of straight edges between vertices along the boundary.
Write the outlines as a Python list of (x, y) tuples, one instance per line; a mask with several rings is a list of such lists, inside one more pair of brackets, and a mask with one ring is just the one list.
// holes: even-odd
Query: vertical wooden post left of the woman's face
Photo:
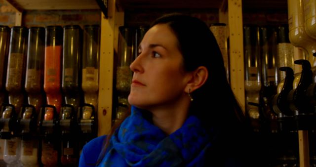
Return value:
[(108, 1), (108, 19), (101, 12), (98, 136), (109, 134), (112, 126), (115, 0)]

